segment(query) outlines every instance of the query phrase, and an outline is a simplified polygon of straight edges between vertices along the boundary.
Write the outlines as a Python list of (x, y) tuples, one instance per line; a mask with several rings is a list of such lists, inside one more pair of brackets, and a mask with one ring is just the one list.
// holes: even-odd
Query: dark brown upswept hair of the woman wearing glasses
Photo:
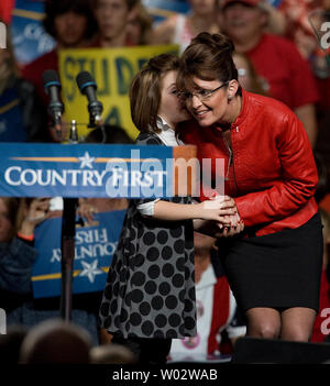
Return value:
[[(182, 55), (182, 66), (177, 78), (178, 88), (184, 90), (193, 78), (202, 80), (220, 80), (222, 82), (238, 80), (238, 69), (232, 55), (234, 45), (222, 34), (201, 32), (191, 40)], [(239, 88), (238, 93), (241, 93)]]

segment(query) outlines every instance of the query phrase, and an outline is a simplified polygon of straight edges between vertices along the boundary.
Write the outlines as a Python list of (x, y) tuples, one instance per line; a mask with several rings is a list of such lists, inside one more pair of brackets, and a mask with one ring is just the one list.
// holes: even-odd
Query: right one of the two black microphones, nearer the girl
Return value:
[(103, 106), (97, 100), (96, 90), (97, 84), (94, 77), (88, 71), (81, 71), (76, 77), (77, 85), (82, 95), (86, 95), (88, 99), (88, 111), (89, 111), (89, 125), (88, 128), (95, 128), (96, 122), (101, 123), (101, 114)]

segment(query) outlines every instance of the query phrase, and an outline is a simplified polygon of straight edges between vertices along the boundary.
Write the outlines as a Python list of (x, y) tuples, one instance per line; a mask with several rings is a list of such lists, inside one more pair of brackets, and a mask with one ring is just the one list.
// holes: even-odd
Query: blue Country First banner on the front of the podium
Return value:
[(173, 148), (0, 143), (0, 196), (172, 197)]

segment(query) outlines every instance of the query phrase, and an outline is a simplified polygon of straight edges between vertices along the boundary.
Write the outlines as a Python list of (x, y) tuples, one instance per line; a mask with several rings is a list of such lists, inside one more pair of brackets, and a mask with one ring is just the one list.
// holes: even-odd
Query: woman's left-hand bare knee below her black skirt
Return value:
[(274, 308), (255, 307), (246, 312), (246, 335), (253, 338), (278, 339), (280, 313)]

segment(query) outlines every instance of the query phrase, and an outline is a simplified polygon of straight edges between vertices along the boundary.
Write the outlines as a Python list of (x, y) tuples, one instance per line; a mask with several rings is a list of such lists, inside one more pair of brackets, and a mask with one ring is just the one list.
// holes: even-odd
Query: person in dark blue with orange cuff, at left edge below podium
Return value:
[(0, 308), (8, 326), (22, 322), (23, 305), (31, 299), (34, 229), (48, 218), (48, 198), (0, 197)]

